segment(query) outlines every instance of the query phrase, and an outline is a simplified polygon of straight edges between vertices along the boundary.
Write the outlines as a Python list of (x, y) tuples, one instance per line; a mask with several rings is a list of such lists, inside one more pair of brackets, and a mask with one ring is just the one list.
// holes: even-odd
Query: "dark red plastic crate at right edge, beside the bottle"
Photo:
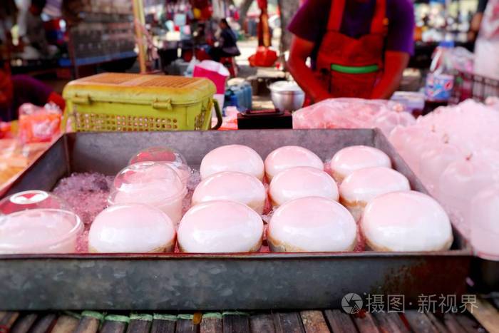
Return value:
[(473, 73), (456, 72), (449, 103), (457, 104), (468, 98), (485, 102), (490, 96), (499, 96), (499, 80)]

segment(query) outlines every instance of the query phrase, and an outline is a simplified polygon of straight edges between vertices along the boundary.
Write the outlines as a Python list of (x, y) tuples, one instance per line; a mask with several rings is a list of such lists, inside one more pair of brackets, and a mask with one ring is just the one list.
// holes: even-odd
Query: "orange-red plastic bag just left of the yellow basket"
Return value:
[(49, 142), (61, 132), (61, 109), (55, 104), (43, 108), (31, 103), (19, 107), (19, 140), (22, 143)]

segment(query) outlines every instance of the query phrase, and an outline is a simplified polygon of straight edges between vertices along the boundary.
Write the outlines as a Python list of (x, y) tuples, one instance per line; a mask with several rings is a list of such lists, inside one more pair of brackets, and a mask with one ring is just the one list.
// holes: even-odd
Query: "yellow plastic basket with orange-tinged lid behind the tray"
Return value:
[(63, 128), (77, 132), (209, 130), (216, 88), (205, 78), (103, 73), (71, 81)]

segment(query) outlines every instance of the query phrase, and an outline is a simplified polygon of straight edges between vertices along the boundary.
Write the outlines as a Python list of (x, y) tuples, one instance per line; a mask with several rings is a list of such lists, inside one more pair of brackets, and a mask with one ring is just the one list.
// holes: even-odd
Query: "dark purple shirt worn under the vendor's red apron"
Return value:
[[(376, 0), (345, 2), (341, 33), (356, 39), (369, 34)], [(316, 43), (313, 60), (317, 58), (317, 51), (327, 30), (331, 3), (331, 0), (305, 1), (288, 26), (288, 30), (299, 38)], [(413, 54), (414, 7), (411, 0), (386, 0), (386, 17), (389, 19), (389, 29), (385, 50)]]

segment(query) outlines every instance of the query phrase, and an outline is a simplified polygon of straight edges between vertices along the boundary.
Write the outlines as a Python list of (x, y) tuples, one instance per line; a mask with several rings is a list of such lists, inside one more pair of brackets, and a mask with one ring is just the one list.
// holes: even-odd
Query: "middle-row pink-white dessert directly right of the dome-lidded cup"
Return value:
[(192, 194), (192, 205), (217, 200), (235, 201), (244, 203), (261, 215), (266, 198), (267, 192), (258, 178), (246, 173), (225, 171), (210, 175), (197, 185)]

